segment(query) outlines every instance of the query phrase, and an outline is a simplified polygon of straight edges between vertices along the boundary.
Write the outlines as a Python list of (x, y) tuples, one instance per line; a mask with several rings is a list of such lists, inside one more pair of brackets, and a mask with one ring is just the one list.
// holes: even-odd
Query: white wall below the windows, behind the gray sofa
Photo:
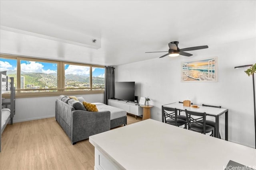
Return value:
[[(70, 95), (71, 96), (71, 95)], [(84, 97), (87, 102), (104, 103), (104, 94), (72, 95)], [(55, 117), (55, 101), (58, 96), (38, 98), (17, 98), (14, 123)]]

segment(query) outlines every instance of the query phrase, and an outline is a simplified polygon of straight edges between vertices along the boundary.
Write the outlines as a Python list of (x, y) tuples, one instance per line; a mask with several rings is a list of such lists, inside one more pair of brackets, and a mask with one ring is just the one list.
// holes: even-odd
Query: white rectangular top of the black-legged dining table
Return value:
[(228, 109), (224, 109), (224, 108), (216, 108), (216, 107), (208, 107), (208, 106), (200, 106), (200, 105), (197, 105), (199, 106), (199, 108), (193, 108), (191, 106), (185, 107), (183, 106), (182, 103), (178, 103), (178, 102), (164, 105), (164, 107), (171, 107), (171, 108), (176, 108), (180, 110), (187, 109), (188, 111), (206, 112), (208, 115), (221, 115), (222, 113), (225, 113), (226, 111), (228, 111)]

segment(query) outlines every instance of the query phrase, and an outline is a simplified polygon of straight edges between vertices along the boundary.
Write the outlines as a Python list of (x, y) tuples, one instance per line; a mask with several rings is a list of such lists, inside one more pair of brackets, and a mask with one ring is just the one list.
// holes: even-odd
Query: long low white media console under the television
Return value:
[(127, 102), (124, 100), (108, 99), (108, 105), (126, 110), (127, 113), (137, 116), (142, 115), (143, 109), (136, 102)]

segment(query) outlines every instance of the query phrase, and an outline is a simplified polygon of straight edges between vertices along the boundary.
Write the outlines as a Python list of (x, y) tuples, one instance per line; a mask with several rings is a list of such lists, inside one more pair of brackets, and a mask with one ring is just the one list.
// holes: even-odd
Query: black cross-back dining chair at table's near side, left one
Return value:
[(177, 118), (177, 109), (162, 106), (162, 115), (164, 116), (164, 122), (174, 126), (185, 125), (187, 128), (187, 121)]

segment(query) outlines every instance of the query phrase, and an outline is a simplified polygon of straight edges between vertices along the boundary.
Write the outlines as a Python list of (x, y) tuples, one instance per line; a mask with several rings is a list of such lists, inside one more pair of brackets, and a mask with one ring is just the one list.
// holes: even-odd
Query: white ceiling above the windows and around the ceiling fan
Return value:
[(1, 0), (0, 25), (1, 53), (116, 66), (256, 37), (256, 1)]

